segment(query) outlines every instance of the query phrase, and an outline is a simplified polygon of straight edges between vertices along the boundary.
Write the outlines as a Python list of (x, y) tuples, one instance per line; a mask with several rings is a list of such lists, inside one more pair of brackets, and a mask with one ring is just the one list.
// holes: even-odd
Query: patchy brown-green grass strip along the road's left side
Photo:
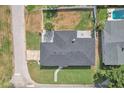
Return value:
[(12, 35), (8, 6), (0, 6), (0, 87), (12, 87)]

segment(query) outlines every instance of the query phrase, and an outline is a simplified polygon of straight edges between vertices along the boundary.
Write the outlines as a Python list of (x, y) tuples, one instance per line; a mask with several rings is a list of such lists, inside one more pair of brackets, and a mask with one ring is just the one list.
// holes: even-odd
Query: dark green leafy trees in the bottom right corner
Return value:
[(104, 72), (100, 71), (94, 76), (95, 83), (102, 83), (106, 79), (109, 80), (107, 87), (122, 88), (124, 87), (124, 70), (111, 69)]

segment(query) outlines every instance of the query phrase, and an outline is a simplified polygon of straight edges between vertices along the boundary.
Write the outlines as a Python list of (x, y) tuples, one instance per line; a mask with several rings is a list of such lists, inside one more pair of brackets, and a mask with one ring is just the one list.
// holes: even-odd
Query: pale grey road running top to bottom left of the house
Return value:
[(26, 62), (24, 6), (14, 5), (11, 6), (11, 10), (14, 49), (14, 74), (11, 81), (16, 87), (26, 87), (33, 81), (28, 73)]

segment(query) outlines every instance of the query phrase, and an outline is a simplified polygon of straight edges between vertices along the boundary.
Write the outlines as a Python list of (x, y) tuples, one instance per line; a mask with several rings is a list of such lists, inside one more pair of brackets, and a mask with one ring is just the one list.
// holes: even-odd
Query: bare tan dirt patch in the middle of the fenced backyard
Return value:
[(55, 30), (73, 30), (80, 21), (80, 11), (60, 11), (54, 19)]

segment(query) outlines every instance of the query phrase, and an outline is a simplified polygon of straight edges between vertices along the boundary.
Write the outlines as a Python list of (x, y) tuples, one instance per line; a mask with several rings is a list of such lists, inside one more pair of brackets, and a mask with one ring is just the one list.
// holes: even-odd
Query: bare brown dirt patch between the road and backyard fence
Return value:
[(40, 32), (41, 31), (41, 12), (30, 13), (26, 15), (26, 31)]

